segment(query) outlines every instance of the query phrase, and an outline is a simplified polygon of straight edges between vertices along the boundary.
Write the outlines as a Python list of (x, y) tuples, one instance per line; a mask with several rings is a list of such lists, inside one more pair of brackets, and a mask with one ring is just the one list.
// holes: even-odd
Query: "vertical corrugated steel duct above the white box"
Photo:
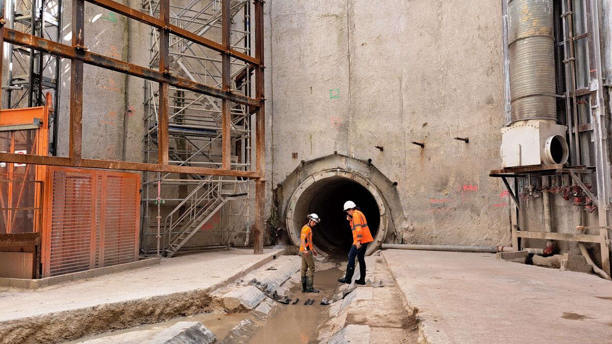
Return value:
[(556, 121), (553, 0), (510, 0), (508, 12), (510, 123)]

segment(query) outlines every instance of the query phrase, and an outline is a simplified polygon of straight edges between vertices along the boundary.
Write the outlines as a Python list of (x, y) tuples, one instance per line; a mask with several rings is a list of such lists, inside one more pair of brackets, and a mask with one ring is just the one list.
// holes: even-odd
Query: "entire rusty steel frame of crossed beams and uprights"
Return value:
[[(160, 31), (160, 64), (159, 70), (148, 69), (140, 65), (130, 64), (129, 62), (118, 59), (108, 58), (101, 54), (92, 53), (87, 50), (84, 42), (84, 7), (85, 2), (103, 7), (113, 12), (124, 15), (127, 18), (140, 21), (141, 23), (152, 26)], [(129, 171), (151, 171), (164, 173), (192, 173), (208, 174), (212, 176), (235, 176), (255, 179), (255, 230), (253, 233), (254, 252), (263, 253), (263, 209), (265, 196), (265, 111), (264, 111), (264, 64), (263, 64), (263, 0), (255, 0), (255, 57), (234, 50), (230, 45), (228, 33), (230, 32), (230, 21), (223, 20), (222, 43), (214, 42), (204, 37), (198, 36), (193, 32), (179, 28), (170, 23), (170, 0), (160, 0), (160, 15), (155, 18), (146, 13), (132, 9), (128, 6), (119, 4), (111, 0), (74, 0), (72, 2), (72, 45), (54, 42), (32, 36), (24, 32), (9, 29), (4, 26), (4, 0), (0, 0), (0, 54), (4, 53), (4, 42), (20, 45), (43, 53), (58, 56), (59, 58), (70, 59), (71, 79), (70, 79), (70, 135), (69, 135), (69, 157), (48, 157), (32, 154), (13, 154), (0, 153), (0, 161), (12, 163), (32, 163), (37, 165), (55, 165), (68, 167), (88, 167), (103, 168), (112, 170)], [(223, 18), (230, 15), (230, 0), (222, 0)], [(222, 88), (209, 86), (186, 80), (171, 74), (169, 66), (169, 38), (174, 34), (190, 42), (196, 43), (223, 55)], [(230, 80), (230, 58), (236, 58), (247, 62), (255, 69), (255, 98), (236, 94), (229, 88)], [(2, 70), (2, 59), (0, 59), (0, 70)], [(83, 65), (89, 64), (103, 69), (132, 75), (133, 77), (159, 83), (160, 94), (160, 119), (159, 119), (159, 151), (157, 163), (133, 163), (111, 160), (83, 159), (81, 155), (82, 144), (82, 121), (83, 121)], [(1, 81), (1, 75), (0, 75)], [(196, 166), (176, 166), (168, 162), (168, 86), (193, 91), (198, 94), (210, 95), (222, 99), (223, 102), (223, 130), (222, 130), (222, 168), (203, 168)], [(230, 128), (231, 106), (230, 102), (236, 102), (249, 107), (248, 113), (255, 113), (256, 124), (256, 168), (255, 171), (236, 171), (231, 170), (230, 156), (231, 145)]]

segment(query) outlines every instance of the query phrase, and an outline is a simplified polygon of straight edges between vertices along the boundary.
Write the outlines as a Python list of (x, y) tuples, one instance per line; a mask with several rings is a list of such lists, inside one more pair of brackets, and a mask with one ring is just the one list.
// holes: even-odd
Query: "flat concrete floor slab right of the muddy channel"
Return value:
[(603, 343), (612, 283), (487, 253), (385, 250), (428, 343)]

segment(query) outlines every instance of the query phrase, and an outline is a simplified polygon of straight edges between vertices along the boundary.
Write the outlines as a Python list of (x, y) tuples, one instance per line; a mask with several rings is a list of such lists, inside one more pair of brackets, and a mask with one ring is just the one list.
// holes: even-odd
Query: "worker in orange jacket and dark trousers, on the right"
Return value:
[(348, 253), (348, 264), (346, 265), (346, 276), (343, 279), (338, 279), (338, 282), (351, 284), (353, 273), (355, 272), (355, 257), (359, 260), (359, 279), (355, 283), (365, 284), (365, 250), (368, 243), (373, 242), (370, 228), (365, 220), (365, 215), (359, 210), (359, 207), (353, 201), (346, 201), (344, 205), (346, 211), (346, 220), (350, 222), (351, 230), (353, 230), (353, 246)]

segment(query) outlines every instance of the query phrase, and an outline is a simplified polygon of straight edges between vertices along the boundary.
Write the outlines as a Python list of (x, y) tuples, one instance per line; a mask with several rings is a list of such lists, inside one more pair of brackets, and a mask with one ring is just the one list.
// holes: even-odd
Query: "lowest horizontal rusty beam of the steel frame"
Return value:
[(72, 163), (70, 157), (53, 157), (34, 154), (1, 153), (1, 162), (28, 163), (34, 165), (52, 165), (67, 167), (102, 168), (103, 170), (149, 171), (165, 173), (192, 173), (208, 174), (211, 176), (259, 178), (258, 171), (223, 170), (220, 168), (207, 168), (195, 166), (159, 165), (155, 163), (139, 163), (113, 160), (82, 159), (80, 163)]

